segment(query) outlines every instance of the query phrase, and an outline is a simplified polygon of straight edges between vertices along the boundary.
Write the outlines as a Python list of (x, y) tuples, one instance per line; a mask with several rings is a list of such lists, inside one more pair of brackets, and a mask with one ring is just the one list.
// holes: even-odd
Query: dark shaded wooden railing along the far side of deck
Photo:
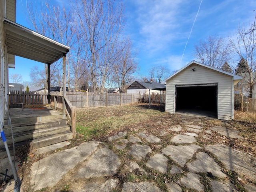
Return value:
[(9, 108), (43, 107), (48, 105), (47, 94), (34, 94), (32, 91), (10, 91)]

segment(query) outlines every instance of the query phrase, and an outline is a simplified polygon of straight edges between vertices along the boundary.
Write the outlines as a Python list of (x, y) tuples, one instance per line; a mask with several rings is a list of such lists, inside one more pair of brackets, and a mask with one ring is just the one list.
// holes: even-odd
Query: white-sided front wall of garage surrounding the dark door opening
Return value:
[[(196, 71), (192, 71), (196, 68)], [(218, 119), (234, 119), (234, 80), (231, 76), (192, 64), (166, 81), (166, 112), (175, 113), (175, 86), (218, 83)], [(188, 93), (189, 97), (189, 93)]]

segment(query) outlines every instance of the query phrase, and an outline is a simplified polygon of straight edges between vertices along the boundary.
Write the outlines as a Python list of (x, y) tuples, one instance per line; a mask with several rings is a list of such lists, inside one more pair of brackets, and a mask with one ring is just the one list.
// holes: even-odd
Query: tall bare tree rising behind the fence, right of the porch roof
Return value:
[(122, 4), (115, 0), (76, 0), (73, 8), (84, 31), (84, 60), (88, 61), (94, 92), (104, 92), (110, 69), (118, 62), (124, 30)]

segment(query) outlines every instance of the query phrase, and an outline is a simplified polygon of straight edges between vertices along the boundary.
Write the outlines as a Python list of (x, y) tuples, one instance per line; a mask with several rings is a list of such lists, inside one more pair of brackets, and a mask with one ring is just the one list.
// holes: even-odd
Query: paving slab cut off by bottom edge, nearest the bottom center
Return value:
[(152, 182), (131, 183), (124, 182), (122, 192), (162, 192)]

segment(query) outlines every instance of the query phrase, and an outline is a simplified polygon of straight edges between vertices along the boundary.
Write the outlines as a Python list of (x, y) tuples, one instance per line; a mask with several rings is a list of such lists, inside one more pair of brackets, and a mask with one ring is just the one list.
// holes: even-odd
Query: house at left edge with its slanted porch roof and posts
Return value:
[[(0, 124), (7, 110), (8, 68), (15, 68), (15, 55), (48, 66), (63, 58), (63, 84), (66, 86), (66, 54), (70, 48), (16, 23), (16, 0), (0, 0)], [(26, 64), (24, 64), (26, 67)], [(50, 87), (50, 80), (48, 80)], [(64, 96), (66, 92), (63, 93)]]

